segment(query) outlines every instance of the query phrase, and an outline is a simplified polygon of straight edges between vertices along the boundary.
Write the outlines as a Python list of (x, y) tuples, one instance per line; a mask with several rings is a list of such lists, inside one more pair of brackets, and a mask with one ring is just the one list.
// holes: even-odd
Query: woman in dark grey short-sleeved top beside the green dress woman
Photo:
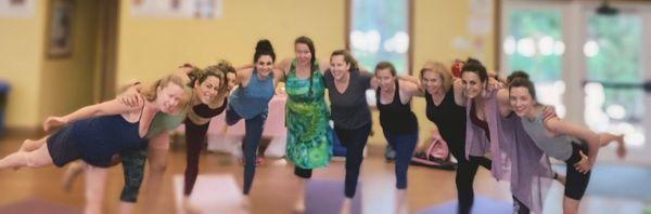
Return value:
[(330, 69), (326, 70), (323, 78), (330, 97), (334, 133), (346, 147), (345, 199), (341, 211), (348, 213), (357, 189), (363, 147), (371, 132), (371, 111), (366, 91), (371, 88), (373, 76), (360, 71), (350, 53), (339, 50), (330, 55)]

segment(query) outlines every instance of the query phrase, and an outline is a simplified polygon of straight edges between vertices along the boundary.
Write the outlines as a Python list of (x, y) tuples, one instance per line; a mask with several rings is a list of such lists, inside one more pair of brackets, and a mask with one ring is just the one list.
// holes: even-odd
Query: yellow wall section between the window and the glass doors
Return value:
[[(413, 75), (418, 75), (426, 61), (438, 61), (450, 66), (452, 59), (465, 59), (469, 56), (480, 58), (488, 69), (494, 67), (494, 32), (492, 31), (487, 36), (474, 36), (469, 32), (467, 26), (471, 16), (470, 2), (471, 0), (413, 0), (413, 58), (411, 58)], [(485, 42), (484, 48), (481, 50), (459, 49), (452, 44), (454, 40), (458, 38), (469, 41), (481, 39)], [(435, 129), (435, 125), (425, 116), (424, 98), (413, 98), (412, 109), (418, 117), (419, 142), (422, 143), (431, 137), (431, 130)], [(373, 112), (373, 131), (375, 135), (369, 142), (386, 142), (382, 135), (376, 111)]]

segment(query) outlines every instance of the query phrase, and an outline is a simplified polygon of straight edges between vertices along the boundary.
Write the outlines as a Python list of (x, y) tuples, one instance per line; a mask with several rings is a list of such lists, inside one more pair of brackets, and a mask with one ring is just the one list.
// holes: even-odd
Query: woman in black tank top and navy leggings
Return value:
[(395, 213), (408, 213), (405, 191), (407, 170), (418, 143), (418, 120), (411, 111), (411, 97), (420, 91), (412, 82), (398, 81), (396, 69), (388, 62), (381, 62), (375, 66), (375, 78), (379, 84), (375, 101), (380, 110), (380, 124), (388, 145), (396, 151)]

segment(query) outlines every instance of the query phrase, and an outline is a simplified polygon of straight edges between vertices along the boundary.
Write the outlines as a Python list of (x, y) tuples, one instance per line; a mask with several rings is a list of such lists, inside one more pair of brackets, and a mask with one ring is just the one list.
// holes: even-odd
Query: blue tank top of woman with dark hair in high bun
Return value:
[(269, 110), (269, 101), (273, 93), (273, 75), (260, 80), (257, 70), (253, 69), (248, 84), (235, 89), (228, 103), (242, 118), (251, 119)]

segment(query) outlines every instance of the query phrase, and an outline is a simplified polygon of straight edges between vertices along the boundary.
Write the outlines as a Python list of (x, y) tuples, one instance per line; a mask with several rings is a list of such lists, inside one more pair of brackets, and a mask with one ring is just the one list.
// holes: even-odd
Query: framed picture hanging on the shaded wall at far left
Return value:
[(69, 57), (73, 55), (74, 1), (54, 0), (49, 13), (48, 56)]

